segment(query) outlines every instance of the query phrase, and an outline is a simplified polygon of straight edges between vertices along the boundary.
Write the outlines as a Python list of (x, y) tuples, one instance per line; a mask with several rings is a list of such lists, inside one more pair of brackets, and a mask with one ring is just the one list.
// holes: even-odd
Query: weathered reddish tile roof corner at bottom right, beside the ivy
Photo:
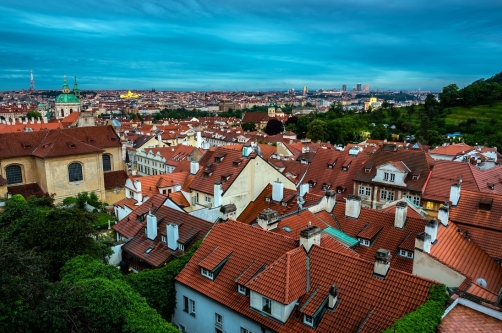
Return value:
[(502, 333), (502, 321), (463, 305), (456, 305), (443, 318), (438, 333)]

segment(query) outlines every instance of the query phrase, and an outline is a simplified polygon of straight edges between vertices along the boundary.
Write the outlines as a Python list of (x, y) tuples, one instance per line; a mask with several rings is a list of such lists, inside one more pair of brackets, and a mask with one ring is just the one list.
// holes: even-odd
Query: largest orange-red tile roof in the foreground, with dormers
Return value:
[[(232, 252), (214, 280), (200, 274), (198, 263), (216, 247)], [(373, 262), (313, 246), (310, 257), (310, 290), (306, 289), (306, 253), (298, 242), (260, 228), (228, 221), (216, 224), (204, 239), (176, 281), (216, 302), (231, 308), (276, 332), (314, 332), (291, 315), (286, 323), (250, 308), (249, 297), (237, 292), (237, 282), (258, 272), (247, 283), (252, 290), (281, 302), (299, 297), (298, 311), (312, 313), (328, 290), (336, 284), (339, 303), (326, 311), (318, 332), (378, 332), (393, 324), (395, 318), (414, 311), (424, 303), (432, 281), (389, 269), (385, 279), (373, 276)], [(251, 273), (248, 273), (251, 272)], [(303, 276), (301, 276), (303, 274)], [(246, 276), (246, 277), (245, 277)]]

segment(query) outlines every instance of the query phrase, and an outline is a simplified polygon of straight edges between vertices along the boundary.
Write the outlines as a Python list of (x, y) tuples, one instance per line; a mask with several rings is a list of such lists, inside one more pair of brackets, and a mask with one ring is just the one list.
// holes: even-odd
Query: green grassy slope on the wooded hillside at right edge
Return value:
[(478, 105), (471, 108), (454, 107), (451, 113), (446, 117), (446, 124), (458, 125), (462, 121), (474, 118), (478, 124), (492, 124), (494, 119), (502, 119), (502, 102), (498, 102), (492, 107), (488, 105)]

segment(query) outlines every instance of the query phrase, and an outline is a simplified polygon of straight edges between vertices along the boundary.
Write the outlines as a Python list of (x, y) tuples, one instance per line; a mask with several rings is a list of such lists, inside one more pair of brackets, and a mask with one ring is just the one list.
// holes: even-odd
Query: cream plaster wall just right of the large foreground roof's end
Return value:
[(444, 283), (447, 287), (458, 287), (465, 280), (462, 274), (416, 249), (413, 258), (413, 274)]

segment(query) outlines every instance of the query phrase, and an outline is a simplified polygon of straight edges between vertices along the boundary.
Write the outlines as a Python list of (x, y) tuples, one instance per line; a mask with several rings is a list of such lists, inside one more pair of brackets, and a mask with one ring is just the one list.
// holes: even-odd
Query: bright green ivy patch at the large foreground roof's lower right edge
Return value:
[(449, 299), (444, 285), (433, 285), (427, 301), (415, 311), (396, 320), (394, 325), (382, 333), (433, 333), (441, 323), (446, 301)]

